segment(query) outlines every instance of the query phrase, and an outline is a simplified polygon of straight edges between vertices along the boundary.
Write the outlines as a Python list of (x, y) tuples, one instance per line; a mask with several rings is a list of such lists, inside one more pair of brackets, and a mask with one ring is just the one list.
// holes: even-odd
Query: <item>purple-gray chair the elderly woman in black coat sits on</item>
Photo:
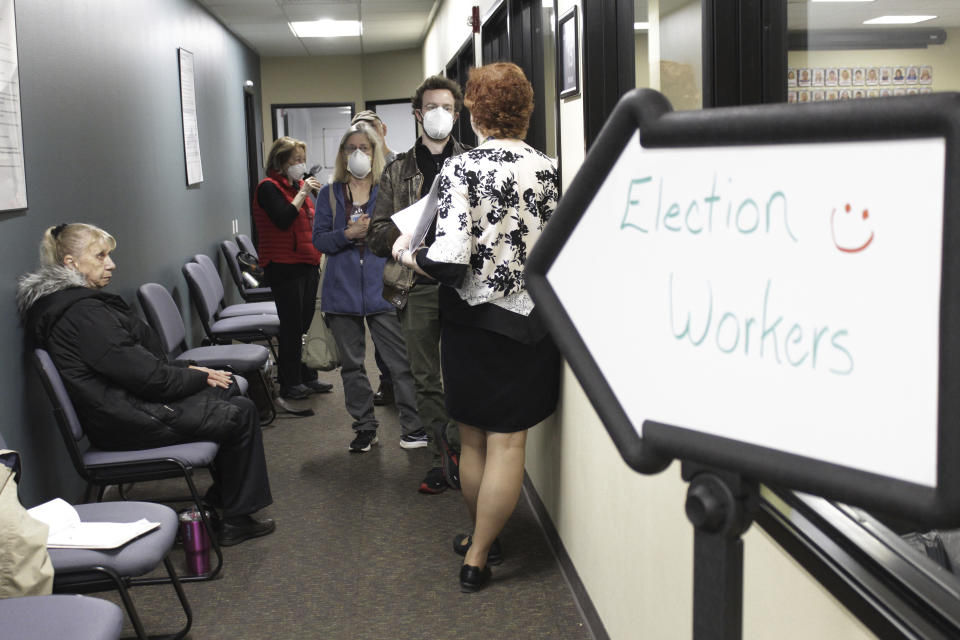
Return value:
[[(87, 442), (83, 425), (80, 424), (80, 418), (73, 407), (73, 401), (67, 394), (63, 379), (53, 364), (50, 354), (45, 349), (34, 349), (33, 355), (43, 387), (50, 399), (57, 427), (67, 447), (67, 453), (70, 455), (74, 469), (87, 482), (84, 500), (90, 499), (90, 493), (94, 487), (99, 488), (97, 492), (99, 502), (103, 500), (106, 488), (111, 485), (117, 485), (123, 497), (124, 483), (183, 478), (190, 490), (189, 500), (200, 512), (204, 527), (210, 536), (210, 545), (217, 556), (217, 563), (207, 574), (186, 576), (181, 580), (192, 582), (215, 578), (223, 567), (223, 551), (220, 549), (216, 532), (213, 530), (210, 518), (207, 517), (207, 510), (193, 481), (193, 471), (209, 469), (220, 449), (219, 445), (215, 442), (201, 441), (135, 451), (97, 449)], [(88, 446), (84, 449), (83, 445)]]

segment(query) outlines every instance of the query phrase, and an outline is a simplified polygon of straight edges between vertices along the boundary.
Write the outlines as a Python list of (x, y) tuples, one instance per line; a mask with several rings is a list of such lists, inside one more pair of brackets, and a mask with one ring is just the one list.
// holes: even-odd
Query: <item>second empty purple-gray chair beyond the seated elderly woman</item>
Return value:
[(275, 314), (262, 314), (220, 318), (217, 316), (220, 297), (217, 288), (210, 282), (206, 270), (196, 262), (188, 262), (183, 265), (183, 277), (187, 281), (190, 299), (200, 316), (200, 323), (203, 325), (208, 342), (230, 344), (234, 340), (238, 342), (263, 340), (274, 352), (274, 359), (276, 359), (273, 339), (280, 333), (279, 317)]

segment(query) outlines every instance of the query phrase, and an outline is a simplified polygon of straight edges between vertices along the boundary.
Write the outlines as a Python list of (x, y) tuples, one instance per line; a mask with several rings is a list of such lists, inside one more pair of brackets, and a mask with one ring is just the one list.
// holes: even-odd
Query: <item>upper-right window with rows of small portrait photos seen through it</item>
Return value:
[(960, 89), (960, 2), (787, 0), (787, 101)]

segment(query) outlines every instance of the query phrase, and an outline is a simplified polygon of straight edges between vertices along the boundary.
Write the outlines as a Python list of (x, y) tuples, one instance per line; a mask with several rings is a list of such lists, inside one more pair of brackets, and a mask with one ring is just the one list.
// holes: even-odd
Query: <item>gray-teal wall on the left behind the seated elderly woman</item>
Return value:
[[(37, 266), (46, 227), (94, 223), (118, 241), (110, 290), (131, 303), (143, 282), (173, 290), (196, 344), (180, 267), (212, 255), (233, 218), (249, 232), (243, 84), (255, 83), (259, 116), (260, 62), (193, 0), (29, 0), (16, 12), (29, 208), (0, 213), (0, 433), (24, 454), (32, 505), (76, 499), (82, 483), (27, 358), (17, 277)], [(178, 47), (194, 53), (203, 159), (189, 188)]]

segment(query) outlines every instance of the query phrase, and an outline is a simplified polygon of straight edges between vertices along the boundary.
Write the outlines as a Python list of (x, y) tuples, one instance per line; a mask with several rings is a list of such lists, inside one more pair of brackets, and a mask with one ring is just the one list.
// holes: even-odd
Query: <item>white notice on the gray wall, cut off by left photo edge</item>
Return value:
[(13, 0), (0, 0), (0, 210), (26, 208), (17, 25)]

